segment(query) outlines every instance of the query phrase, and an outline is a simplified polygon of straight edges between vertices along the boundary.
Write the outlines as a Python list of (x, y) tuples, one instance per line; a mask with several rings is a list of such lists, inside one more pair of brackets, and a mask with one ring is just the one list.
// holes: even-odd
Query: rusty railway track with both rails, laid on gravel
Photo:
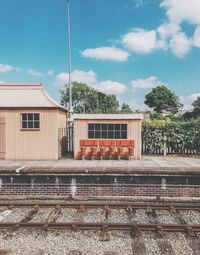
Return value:
[[(156, 217), (156, 210), (167, 210), (171, 214), (179, 214), (180, 211), (196, 211), (200, 212), (200, 205), (178, 205), (178, 204), (132, 204), (132, 203), (0, 203), (0, 209), (8, 208), (13, 209), (30, 209), (28, 214), (20, 221), (16, 222), (1, 222), (0, 229), (12, 229), (17, 230), (20, 228), (33, 228), (33, 229), (45, 229), (45, 230), (100, 230), (100, 231), (131, 231), (132, 233), (140, 233), (141, 231), (154, 231), (159, 234), (164, 232), (183, 232), (191, 236), (196, 235), (200, 232), (200, 224), (187, 224), (179, 215), (180, 222), (182, 224), (164, 224), (164, 223), (149, 223), (149, 224), (134, 224), (134, 223), (84, 223), (74, 221), (72, 222), (56, 222), (57, 217), (61, 213), (62, 209), (77, 209), (80, 212), (84, 212), (90, 209), (103, 209), (105, 210), (106, 218), (109, 217), (109, 212), (114, 210), (124, 209), (127, 212), (132, 212), (134, 210), (144, 209), (148, 215)], [(54, 217), (52, 219), (46, 219), (41, 222), (32, 222), (34, 215), (36, 215), (40, 210), (52, 208)]]

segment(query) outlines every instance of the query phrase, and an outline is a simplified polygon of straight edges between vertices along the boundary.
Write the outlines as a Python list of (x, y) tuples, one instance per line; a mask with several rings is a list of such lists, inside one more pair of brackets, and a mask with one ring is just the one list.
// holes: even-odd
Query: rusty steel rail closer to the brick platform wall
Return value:
[(5, 202), (0, 203), (1, 207), (10, 208), (74, 208), (74, 209), (145, 209), (145, 210), (169, 210), (169, 211), (181, 211), (192, 210), (200, 212), (199, 205), (175, 205), (175, 204), (132, 204), (132, 203), (17, 203), (17, 202)]

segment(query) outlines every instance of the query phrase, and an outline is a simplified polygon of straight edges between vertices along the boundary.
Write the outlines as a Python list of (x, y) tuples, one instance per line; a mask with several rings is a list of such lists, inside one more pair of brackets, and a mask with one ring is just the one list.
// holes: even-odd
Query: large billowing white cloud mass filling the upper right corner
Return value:
[[(168, 21), (149, 31), (136, 28), (123, 36), (122, 44), (143, 54), (171, 49), (180, 58), (193, 46), (200, 47), (200, 0), (162, 0), (160, 6), (166, 9)], [(182, 31), (183, 22), (197, 25), (193, 38)]]

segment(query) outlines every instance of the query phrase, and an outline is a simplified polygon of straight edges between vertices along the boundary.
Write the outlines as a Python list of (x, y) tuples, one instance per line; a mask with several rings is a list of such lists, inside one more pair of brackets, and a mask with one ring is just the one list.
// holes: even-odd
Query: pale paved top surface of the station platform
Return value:
[(126, 173), (126, 172), (171, 172), (200, 173), (200, 158), (197, 157), (151, 157), (141, 160), (74, 160), (14, 161), (0, 160), (0, 172), (55, 172), (55, 173)]

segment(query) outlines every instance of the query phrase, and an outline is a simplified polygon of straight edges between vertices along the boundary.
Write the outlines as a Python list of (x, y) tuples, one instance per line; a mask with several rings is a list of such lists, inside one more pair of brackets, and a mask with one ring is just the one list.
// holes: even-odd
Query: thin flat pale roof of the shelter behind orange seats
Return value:
[(74, 114), (74, 120), (142, 120), (143, 114)]

